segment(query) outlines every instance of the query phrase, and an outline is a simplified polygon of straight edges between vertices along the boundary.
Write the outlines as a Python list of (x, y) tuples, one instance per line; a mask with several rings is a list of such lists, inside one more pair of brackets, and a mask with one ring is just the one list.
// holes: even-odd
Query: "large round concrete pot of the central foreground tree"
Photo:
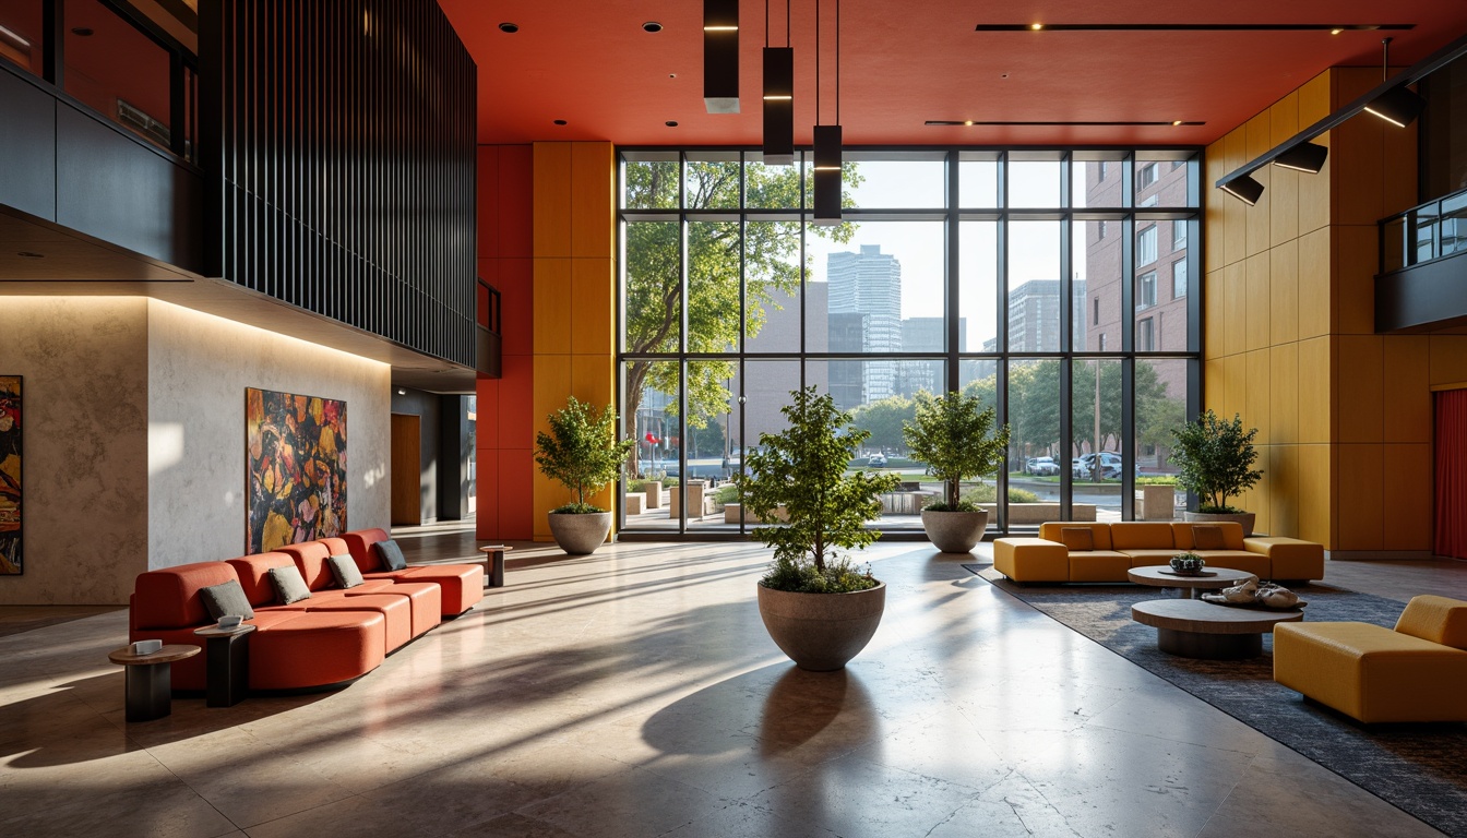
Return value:
[(758, 615), (795, 666), (811, 672), (841, 669), (882, 622), (886, 583), (855, 593), (789, 593), (758, 586)]

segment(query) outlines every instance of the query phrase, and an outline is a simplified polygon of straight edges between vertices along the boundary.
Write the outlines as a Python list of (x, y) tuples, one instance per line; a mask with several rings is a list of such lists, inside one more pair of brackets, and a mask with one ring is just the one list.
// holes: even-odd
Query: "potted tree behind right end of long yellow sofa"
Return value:
[(1178, 467), (1177, 483), (1200, 499), (1196, 512), (1185, 512), (1187, 521), (1237, 521), (1243, 534), (1253, 534), (1253, 512), (1228, 505), (1228, 498), (1241, 495), (1263, 477), (1253, 464), (1259, 452), (1253, 437), (1259, 429), (1243, 430), (1243, 418), (1219, 420), (1212, 411), (1197, 417), (1179, 430), (1172, 430), (1177, 446), (1172, 464)]

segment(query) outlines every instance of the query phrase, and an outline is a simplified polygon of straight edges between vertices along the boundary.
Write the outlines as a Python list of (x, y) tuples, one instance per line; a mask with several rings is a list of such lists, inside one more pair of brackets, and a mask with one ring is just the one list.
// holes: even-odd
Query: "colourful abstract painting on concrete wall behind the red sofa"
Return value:
[(346, 402), (245, 389), (246, 553), (346, 531)]

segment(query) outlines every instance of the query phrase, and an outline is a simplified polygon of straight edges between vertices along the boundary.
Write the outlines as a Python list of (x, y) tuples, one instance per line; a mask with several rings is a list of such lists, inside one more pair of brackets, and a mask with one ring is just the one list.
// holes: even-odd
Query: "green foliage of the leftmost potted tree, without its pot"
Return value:
[(616, 480), (622, 461), (637, 448), (629, 439), (616, 439), (616, 411), (612, 405), (596, 409), (571, 396), (563, 409), (547, 417), (550, 433), (535, 434), (535, 464), (546, 477), (575, 492), (575, 503), (555, 512), (585, 515), (606, 512), (585, 502), (587, 493), (597, 493)]

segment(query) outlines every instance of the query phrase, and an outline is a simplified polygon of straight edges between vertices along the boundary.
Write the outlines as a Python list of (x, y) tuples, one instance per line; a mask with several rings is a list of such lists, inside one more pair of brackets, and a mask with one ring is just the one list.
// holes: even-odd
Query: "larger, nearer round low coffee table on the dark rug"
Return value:
[(1178, 657), (1241, 660), (1263, 655), (1263, 634), (1300, 622), (1301, 611), (1228, 608), (1197, 599), (1153, 599), (1131, 606), (1131, 619), (1156, 627), (1156, 647)]

